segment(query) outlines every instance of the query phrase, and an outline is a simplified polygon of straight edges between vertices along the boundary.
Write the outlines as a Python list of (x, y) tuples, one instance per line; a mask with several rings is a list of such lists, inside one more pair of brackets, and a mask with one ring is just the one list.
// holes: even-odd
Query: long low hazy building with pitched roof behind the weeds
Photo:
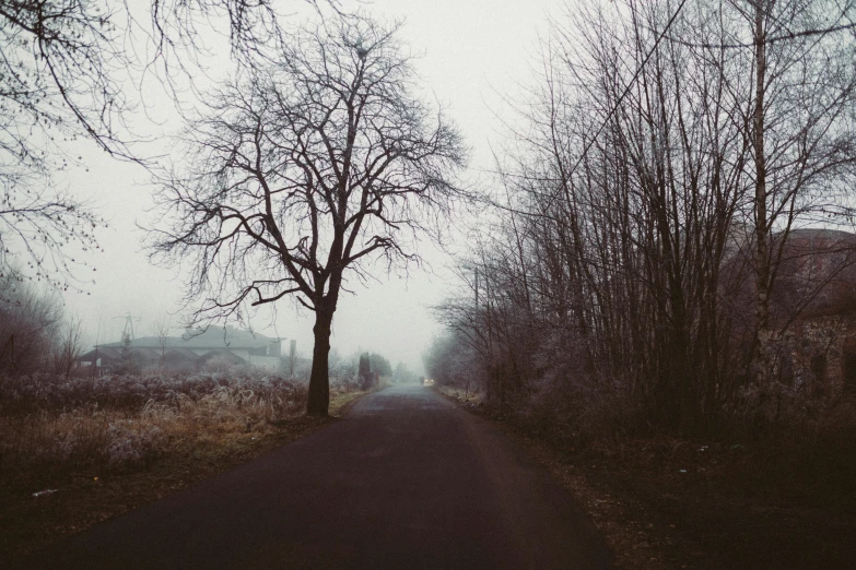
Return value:
[[(162, 342), (163, 341), (163, 342)], [(187, 330), (181, 336), (143, 336), (126, 347), (121, 342), (102, 344), (79, 358), (83, 366), (97, 366), (102, 373), (129, 367), (163, 367), (191, 372), (220, 365), (279, 370), (281, 339), (233, 326)]]

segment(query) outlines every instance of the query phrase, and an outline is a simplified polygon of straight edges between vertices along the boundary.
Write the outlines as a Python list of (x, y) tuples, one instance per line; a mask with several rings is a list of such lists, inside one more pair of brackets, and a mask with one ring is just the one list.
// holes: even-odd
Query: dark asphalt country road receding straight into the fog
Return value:
[(24, 568), (599, 569), (571, 497), (489, 423), (392, 387), (250, 463), (36, 553)]

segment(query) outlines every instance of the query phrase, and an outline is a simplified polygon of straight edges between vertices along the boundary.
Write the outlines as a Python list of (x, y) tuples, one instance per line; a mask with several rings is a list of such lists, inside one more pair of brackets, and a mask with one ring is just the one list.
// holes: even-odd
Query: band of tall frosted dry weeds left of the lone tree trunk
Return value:
[(305, 403), (304, 382), (260, 375), (3, 377), (0, 470), (140, 465), (177, 448), (269, 434)]

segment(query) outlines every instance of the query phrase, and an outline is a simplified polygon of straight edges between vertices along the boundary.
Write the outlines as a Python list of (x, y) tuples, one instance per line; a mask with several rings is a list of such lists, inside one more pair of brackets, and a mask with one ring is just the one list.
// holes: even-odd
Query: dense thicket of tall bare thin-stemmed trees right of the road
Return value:
[(554, 22), (469, 293), (441, 309), (490, 397), (619, 395), (696, 432), (773, 381), (787, 233), (852, 222), (854, 16), (625, 0)]

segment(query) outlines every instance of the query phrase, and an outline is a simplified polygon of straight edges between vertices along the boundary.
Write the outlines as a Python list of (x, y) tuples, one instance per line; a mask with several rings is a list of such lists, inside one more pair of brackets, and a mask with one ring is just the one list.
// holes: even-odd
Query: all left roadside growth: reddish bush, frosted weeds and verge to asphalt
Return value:
[[(0, 277), (0, 558), (144, 504), (324, 425), (309, 363), (285, 375), (212, 358), (190, 373), (98, 376), (50, 293)], [(365, 383), (335, 358), (330, 412)], [(388, 367), (388, 364), (387, 364)]]

